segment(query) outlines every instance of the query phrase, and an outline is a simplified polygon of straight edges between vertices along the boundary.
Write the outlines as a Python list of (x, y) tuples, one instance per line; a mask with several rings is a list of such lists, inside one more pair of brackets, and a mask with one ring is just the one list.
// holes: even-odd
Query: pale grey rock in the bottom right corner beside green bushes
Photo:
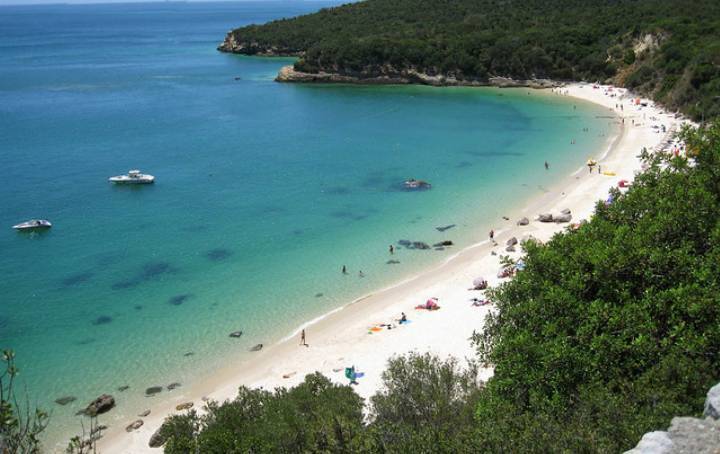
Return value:
[(720, 447), (720, 383), (705, 399), (704, 419), (676, 417), (666, 431), (648, 432), (625, 454), (717, 454)]

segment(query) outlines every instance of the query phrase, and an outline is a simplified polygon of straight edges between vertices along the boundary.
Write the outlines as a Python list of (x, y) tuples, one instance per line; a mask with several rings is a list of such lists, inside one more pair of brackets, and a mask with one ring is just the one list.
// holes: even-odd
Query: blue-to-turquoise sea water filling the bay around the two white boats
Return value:
[[(284, 85), (291, 60), (215, 51), (233, 26), (322, 5), (0, 8), (0, 347), (52, 410), (50, 440), (99, 393), (135, 413), (148, 386), (197, 381), (438, 263), (452, 251), (388, 265), (387, 248), (483, 238), (613, 132), (562, 97)], [(136, 167), (157, 184), (107, 183)], [(433, 189), (405, 192), (409, 177)], [(55, 226), (10, 228), (33, 217)]]

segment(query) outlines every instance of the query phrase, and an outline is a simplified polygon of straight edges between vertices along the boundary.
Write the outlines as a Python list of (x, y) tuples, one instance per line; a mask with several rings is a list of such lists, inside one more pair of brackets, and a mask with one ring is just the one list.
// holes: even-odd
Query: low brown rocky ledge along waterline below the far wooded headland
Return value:
[(280, 69), (277, 82), (316, 82), (367, 85), (432, 85), (435, 87), (529, 87), (551, 88), (561, 84), (547, 79), (514, 80), (506, 77), (491, 77), (488, 80), (474, 78), (458, 78), (453, 74), (427, 74), (415, 68), (395, 68), (390, 65), (369, 68), (365, 71), (347, 73), (337, 72), (303, 72), (288, 65)]

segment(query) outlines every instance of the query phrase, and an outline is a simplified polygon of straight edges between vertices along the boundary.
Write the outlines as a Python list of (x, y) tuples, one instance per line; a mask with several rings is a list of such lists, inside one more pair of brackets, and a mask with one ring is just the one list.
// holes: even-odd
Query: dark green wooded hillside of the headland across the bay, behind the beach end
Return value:
[(716, 0), (365, 0), (232, 34), (304, 72), (610, 80), (700, 119), (720, 114), (718, 30)]

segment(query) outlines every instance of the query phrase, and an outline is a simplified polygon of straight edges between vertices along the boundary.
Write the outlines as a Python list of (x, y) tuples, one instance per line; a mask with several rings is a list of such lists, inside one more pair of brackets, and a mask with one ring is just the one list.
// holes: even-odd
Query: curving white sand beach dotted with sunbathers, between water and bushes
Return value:
[[(500, 256), (508, 255), (505, 242), (513, 236), (522, 240), (528, 235), (546, 241), (568, 226), (536, 221), (541, 212), (557, 214), (567, 208), (572, 211), (573, 223), (587, 219), (596, 201), (606, 199), (611, 187), (617, 186), (621, 179), (631, 181), (640, 170), (637, 158), (640, 150), (643, 147), (655, 149), (679, 127), (680, 120), (655, 107), (652, 101), (643, 100), (647, 102), (647, 107), (641, 107), (631, 104), (629, 96), (621, 98), (619, 94), (625, 93), (624, 90), (608, 92), (608, 87), (604, 86), (593, 88), (589, 84), (573, 84), (556, 91), (600, 104), (612, 110), (608, 115), (617, 115), (619, 122), (625, 118), (620, 135), (608, 138), (606, 149), (599, 150), (595, 156), (602, 170), (615, 172), (615, 176), (598, 174), (597, 170), (589, 174), (587, 168), (578, 169), (549, 192), (528, 201), (521, 210), (506, 213), (510, 220), (497, 219), (494, 227), (497, 246), (485, 241), (458, 251), (433, 270), (328, 314), (306, 327), (309, 347), (299, 346), (299, 335), (293, 333), (283, 342), (265, 346), (252, 361), (228, 365), (212, 380), (180, 388), (168, 395), (167, 400), (149, 401), (147, 408), (151, 414), (142, 418), (144, 425), (136, 431), (127, 433), (125, 427), (139, 418), (125, 420), (113, 415), (112, 411), (103, 415), (101, 422), (109, 429), (98, 442), (98, 449), (106, 454), (160, 452), (162, 448), (149, 448), (148, 440), (164, 418), (175, 411), (176, 405), (193, 402), (199, 408), (203, 405), (203, 397), (218, 401), (232, 399), (240, 385), (266, 389), (289, 387), (314, 371), (347, 384), (344, 368), (354, 365), (358, 371), (365, 373), (354, 389), (368, 398), (378, 390), (381, 373), (393, 355), (416, 351), (454, 355), (461, 359), (474, 358), (475, 351), (469, 339), (473, 331), (482, 330), (485, 316), (493, 310), (493, 306), (473, 307), (470, 299), (482, 297), (483, 292), (468, 289), (479, 276), (484, 276), (491, 287), (505, 280), (496, 277)], [(612, 97), (611, 93), (616, 96)], [(622, 111), (615, 109), (615, 105), (620, 103), (624, 106)], [(664, 125), (668, 133), (659, 132), (653, 125)], [(517, 226), (516, 221), (522, 217), (530, 219), (530, 224)], [(509, 255), (514, 258), (521, 256), (520, 248), (517, 249)], [(497, 255), (492, 255), (492, 251)], [(430, 297), (438, 298), (440, 310), (414, 309)], [(412, 323), (369, 334), (371, 326), (394, 322), (401, 312), (405, 312)], [(284, 375), (289, 378), (283, 378)], [(481, 371), (483, 379), (491, 375), (491, 369)], [(143, 410), (138, 409), (138, 413)]]

